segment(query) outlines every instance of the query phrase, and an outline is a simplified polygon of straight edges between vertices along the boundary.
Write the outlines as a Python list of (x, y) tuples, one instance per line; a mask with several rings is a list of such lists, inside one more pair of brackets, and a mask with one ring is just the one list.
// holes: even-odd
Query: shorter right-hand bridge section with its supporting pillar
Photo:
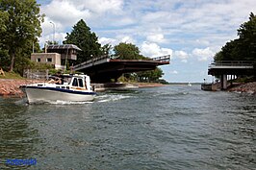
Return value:
[(220, 76), (222, 89), (227, 88), (227, 75), (256, 75), (256, 61), (216, 61), (208, 67), (208, 75)]

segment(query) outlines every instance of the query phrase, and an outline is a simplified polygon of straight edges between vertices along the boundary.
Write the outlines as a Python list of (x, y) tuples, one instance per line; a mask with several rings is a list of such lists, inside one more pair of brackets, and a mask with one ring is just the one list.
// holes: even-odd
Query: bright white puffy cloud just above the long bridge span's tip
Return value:
[(150, 43), (144, 41), (141, 44), (141, 54), (146, 57), (160, 57), (165, 55), (172, 56), (172, 50), (168, 48), (161, 48), (156, 43)]

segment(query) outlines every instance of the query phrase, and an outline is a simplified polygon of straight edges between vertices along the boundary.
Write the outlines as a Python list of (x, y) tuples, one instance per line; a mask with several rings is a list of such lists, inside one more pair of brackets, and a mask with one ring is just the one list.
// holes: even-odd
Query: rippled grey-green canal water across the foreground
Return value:
[[(37, 163), (8, 163), (29, 158)], [(255, 95), (167, 85), (90, 103), (0, 98), (1, 170), (255, 167)]]

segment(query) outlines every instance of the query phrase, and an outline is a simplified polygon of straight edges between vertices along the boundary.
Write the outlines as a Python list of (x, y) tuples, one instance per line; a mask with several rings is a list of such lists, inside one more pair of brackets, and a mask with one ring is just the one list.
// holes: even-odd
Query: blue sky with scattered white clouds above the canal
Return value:
[(62, 43), (84, 19), (101, 44), (136, 44), (147, 57), (171, 56), (161, 66), (168, 82), (208, 82), (208, 64), (256, 13), (256, 0), (38, 0), (45, 13), (40, 44)]

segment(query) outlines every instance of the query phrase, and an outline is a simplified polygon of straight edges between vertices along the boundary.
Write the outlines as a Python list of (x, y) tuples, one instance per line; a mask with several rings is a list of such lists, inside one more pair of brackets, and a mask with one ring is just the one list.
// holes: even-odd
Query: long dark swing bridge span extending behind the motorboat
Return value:
[(170, 55), (143, 60), (118, 60), (108, 56), (91, 59), (73, 67), (74, 71), (81, 71), (90, 76), (93, 83), (108, 83), (117, 80), (123, 73), (133, 73), (154, 70), (159, 65), (169, 64)]

